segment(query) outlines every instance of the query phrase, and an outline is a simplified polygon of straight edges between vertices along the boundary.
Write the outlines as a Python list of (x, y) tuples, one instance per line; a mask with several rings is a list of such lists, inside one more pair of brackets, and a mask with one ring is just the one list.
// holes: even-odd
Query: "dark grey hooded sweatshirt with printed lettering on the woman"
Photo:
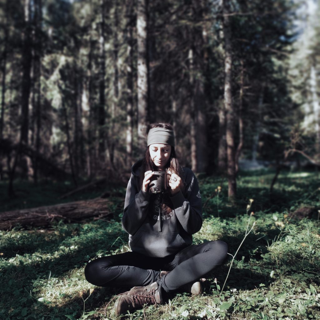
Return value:
[(142, 160), (131, 168), (125, 196), (122, 227), (129, 233), (132, 251), (150, 257), (165, 257), (192, 244), (192, 234), (202, 226), (202, 204), (196, 176), (183, 168), (184, 194), (166, 194), (164, 202), (172, 212), (159, 215), (159, 196), (139, 188)]

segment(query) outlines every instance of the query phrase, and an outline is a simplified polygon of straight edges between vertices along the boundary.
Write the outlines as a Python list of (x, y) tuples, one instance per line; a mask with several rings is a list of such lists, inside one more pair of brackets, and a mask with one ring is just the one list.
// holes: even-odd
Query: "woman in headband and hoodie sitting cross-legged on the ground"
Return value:
[[(192, 245), (202, 226), (201, 196), (194, 173), (176, 158), (171, 125), (151, 125), (147, 144), (145, 158), (132, 166), (122, 218), (132, 251), (93, 260), (84, 270), (97, 286), (134, 286), (116, 300), (116, 315), (165, 303), (178, 289), (202, 293), (198, 279), (227, 256), (220, 240)], [(155, 171), (168, 173), (169, 192), (148, 192)]]

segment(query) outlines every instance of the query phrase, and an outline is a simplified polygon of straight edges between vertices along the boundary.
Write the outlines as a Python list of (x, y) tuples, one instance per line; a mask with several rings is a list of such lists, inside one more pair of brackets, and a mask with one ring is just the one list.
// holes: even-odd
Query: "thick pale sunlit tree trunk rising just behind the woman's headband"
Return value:
[(138, 148), (143, 155), (147, 144), (148, 115), (148, 0), (137, 0), (138, 36)]

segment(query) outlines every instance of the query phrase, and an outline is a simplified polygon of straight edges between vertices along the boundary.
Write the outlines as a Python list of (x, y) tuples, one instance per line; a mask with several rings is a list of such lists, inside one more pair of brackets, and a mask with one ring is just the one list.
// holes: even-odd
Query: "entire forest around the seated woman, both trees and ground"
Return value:
[(0, 0), (0, 17), (1, 318), (120, 318), (83, 270), (130, 250), (125, 190), (159, 122), (199, 181), (194, 243), (230, 260), (203, 295), (127, 318), (320, 318), (319, 0)]

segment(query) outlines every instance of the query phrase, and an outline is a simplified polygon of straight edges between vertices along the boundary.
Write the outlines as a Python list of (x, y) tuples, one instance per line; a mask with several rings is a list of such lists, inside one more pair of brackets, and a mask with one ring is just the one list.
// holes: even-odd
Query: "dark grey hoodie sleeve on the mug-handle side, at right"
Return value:
[(187, 182), (185, 196), (179, 191), (170, 198), (182, 228), (189, 234), (194, 234), (202, 227), (202, 203), (196, 176), (190, 169), (185, 170)]

